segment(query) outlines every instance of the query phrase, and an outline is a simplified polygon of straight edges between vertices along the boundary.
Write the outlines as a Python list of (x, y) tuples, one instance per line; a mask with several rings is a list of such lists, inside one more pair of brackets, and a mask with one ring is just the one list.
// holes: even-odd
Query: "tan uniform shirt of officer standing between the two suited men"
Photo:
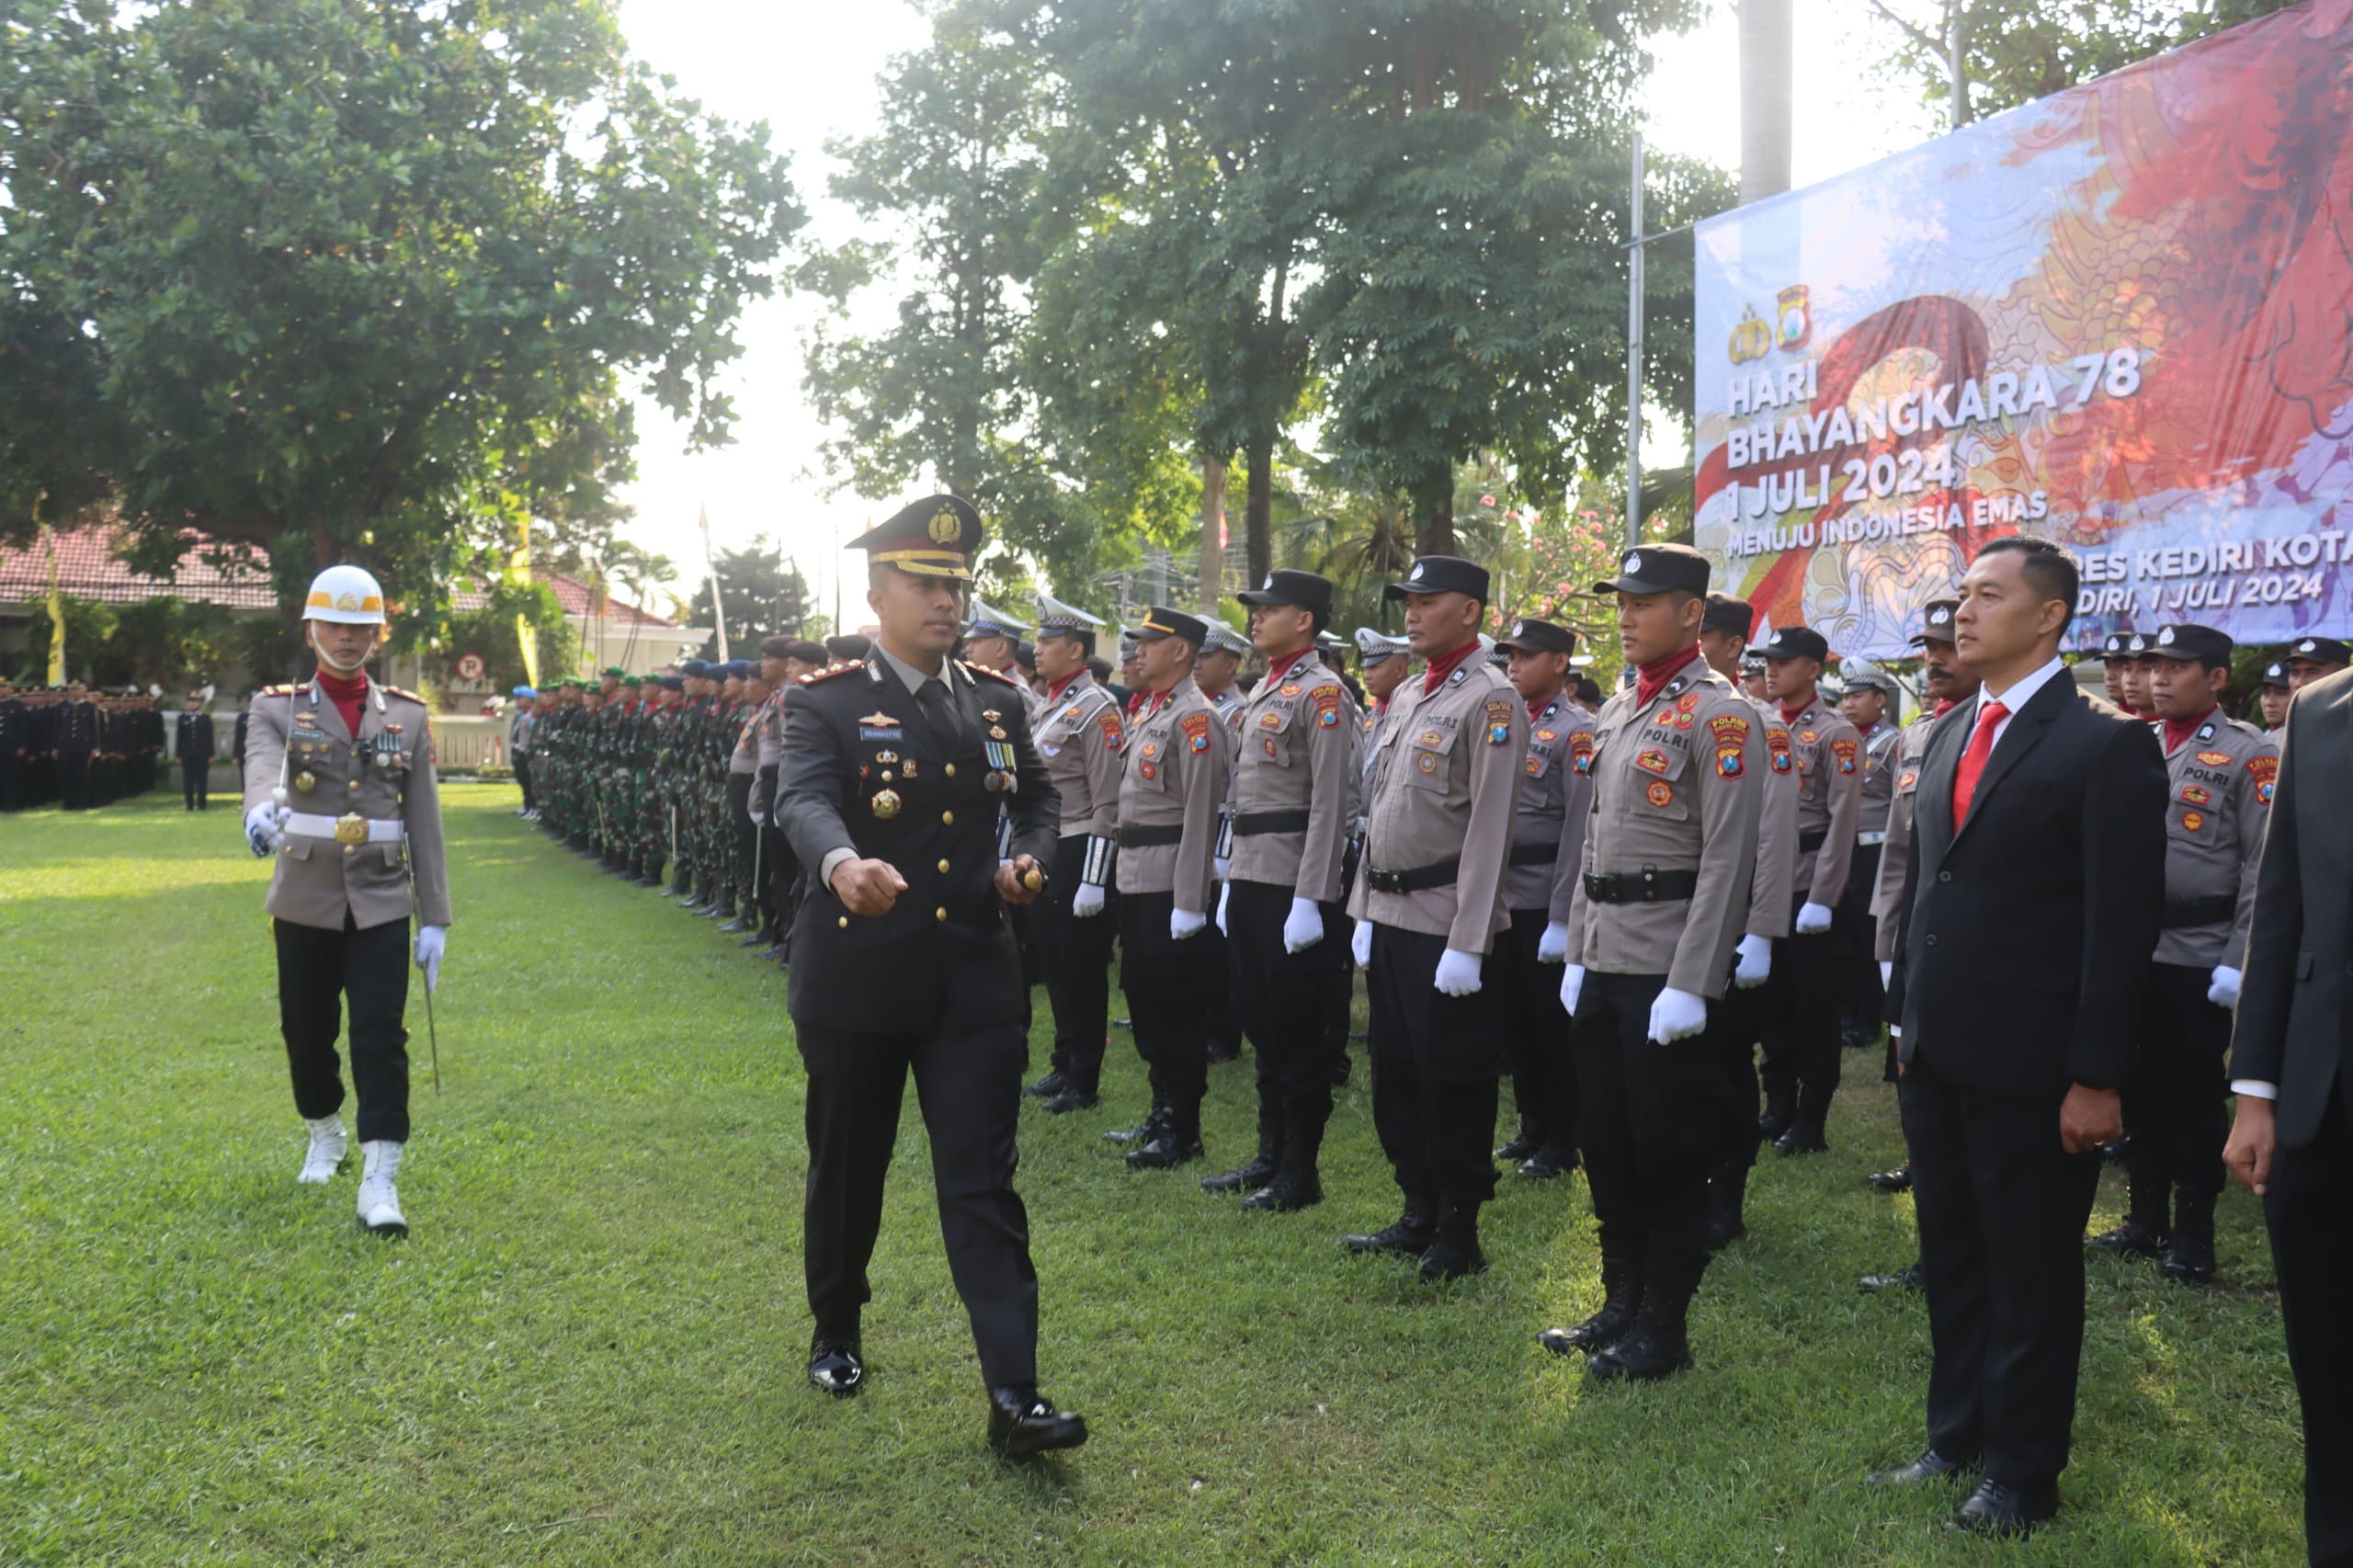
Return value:
[[(2158, 727), (2165, 744), (2165, 727)], [(2172, 798), (2165, 805), (2165, 930), (2155, 963), (2200, 970), (2247, 968), (2254, 916), (2254, 869), (2271, 819), (2280, 749), (2254, 725), (2219, 709), (2165, 756)], [(2186, 899), (2231, 899), (2221, 921), (2174, 925)]]

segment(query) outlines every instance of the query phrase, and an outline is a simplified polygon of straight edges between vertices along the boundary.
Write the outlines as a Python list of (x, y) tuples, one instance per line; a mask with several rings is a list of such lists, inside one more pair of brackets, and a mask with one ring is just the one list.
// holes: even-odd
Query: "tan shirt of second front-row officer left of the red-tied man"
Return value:
[[(1412, 676), (1388, 699), (1348, 913), (1485, 956), (1494, 932), (1511, 925), (1504, 869), (1527, 768), (1527, 704), (1478, 652), (1435, 692), (1421, 690), (1426, 680)], [(1417, 871), (1447, 859), (1454, 878), (1442, 885), (1372, 890), (1374, 871)]]

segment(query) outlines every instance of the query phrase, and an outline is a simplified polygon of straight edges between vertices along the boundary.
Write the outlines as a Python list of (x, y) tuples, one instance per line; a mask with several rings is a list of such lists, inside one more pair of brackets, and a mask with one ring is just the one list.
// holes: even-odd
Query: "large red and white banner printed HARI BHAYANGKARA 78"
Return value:
[(1901, 657), (2000, 534), (2071, 647), (2353, 633), (2353, 0), (1699, 226), (1697, 544)]

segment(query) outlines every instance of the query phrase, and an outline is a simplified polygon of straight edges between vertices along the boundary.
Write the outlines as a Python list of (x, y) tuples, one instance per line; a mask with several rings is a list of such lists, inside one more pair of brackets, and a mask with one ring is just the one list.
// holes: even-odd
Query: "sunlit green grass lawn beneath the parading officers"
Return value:
[[(1534, 1340), (1598, 1304), (1581, 1177), (1506, 1180), (1494, 1269), (1433, 1290), (1339, 1250), (1398, 1201), (1362, 1064), (1327, 1203), (1242, 1215), (1195, 1180), (1247, 1154), (1247, 1059), (1212, 1074), (1209, 1165), (1132, 1175), (1096, 1137), (1144, 1109), (1120, 1034), (1104, 1111), (1024, 1111), (1045, 1389), (1094, 1429), (1038, 1467), (981, 1446), (908, 1095), (871, 1384), (819, 1398), (784, 975), (513, 800), (445, 793), (445, 1092), (412, 989), (405, 1243), (355, 1227), (355, 1156), (294, 1184), (233, 800), (0, 819), (0, 1561), (2301, 1561), (2238, 1191), (2226, 1285), (2094, 1262), (2059, 1526), (1984, 1547), (1939, 1528), (1958, 1493), (1861, 1486), (1922, 1446), (1927, 1375), (1918, 1300), (1854, 1290), (1913, 1250), (1908, 1201), (1861, 1184), (1899, 1154), (1864, 1052), (1833, 1154), (1758, 1170), (1699, 1373), (1598, 1389)], [(2097, 1224), (2118, 1203), (2111, 1175)]]

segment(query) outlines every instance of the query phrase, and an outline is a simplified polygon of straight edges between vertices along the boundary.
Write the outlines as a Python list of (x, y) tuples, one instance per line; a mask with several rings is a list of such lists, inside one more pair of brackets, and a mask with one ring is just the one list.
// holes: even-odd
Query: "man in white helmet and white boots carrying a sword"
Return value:
[(440, 982), (449, 873), (426, 704), (367, 676), (381, 636), (384, 589), (374, 577), (334, 565), (311, 582), (304, 638), (318, 673), (254, 695), (245, 836), (254, 855), (278, 862), (264, 909), (278, 942), (278, 1022), (294, 1109), (311, 1125), (296, 1180), (332, 1182), (344, 1163), (334, 1036), (348, 1012), (360, 1224), (405, 1236), (393, 1182), (409, 1137), (407, 965), (414, 951), (426, 991)]

